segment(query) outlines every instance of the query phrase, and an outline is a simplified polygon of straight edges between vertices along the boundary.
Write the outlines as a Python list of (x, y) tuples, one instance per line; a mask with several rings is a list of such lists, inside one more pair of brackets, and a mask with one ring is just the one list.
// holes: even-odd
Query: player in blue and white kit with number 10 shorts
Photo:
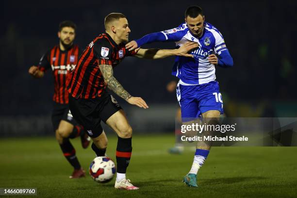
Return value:
[[(150, 33), (126, 45), (127, 49), (132, 50), (155, 41), (174, 41), (177, 47), (187, 41), (199, 44), (198, 49), (191, 51), (194, 59), (177, 56), (172, 69), (172, 74), (180, 79), (177, 98), (184, 125), (193, 123), (199, 116), (208, 120), (208, 124), (219, 124), (223, 100), (218, 82), (215, 81), (215, 66), (233, 66), (222, 34), (204, 19), (202, 9), (191, 6), (185, 11), (185, 23), (178, 28)], [(210, 148), (210, 144), (198, 142), (191, 170), (183, 178), (188, 186), (197, 187), (198, 169), (203, 165)]]

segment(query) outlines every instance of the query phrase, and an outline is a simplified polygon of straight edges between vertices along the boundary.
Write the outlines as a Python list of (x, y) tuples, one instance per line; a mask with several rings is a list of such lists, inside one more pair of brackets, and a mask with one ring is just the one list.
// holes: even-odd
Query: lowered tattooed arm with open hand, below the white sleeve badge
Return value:
[(148, 108), (147, 103), (142, 98), (132, 97), (124, 89), (124, 87), (115, 79), (113, 66), (100, 65), (99, 68), (100, 68), (100, 71), (102, 73), (104, 80), (107, 82), (108, 88), (111, 89), (113, 92), (115, 92), (116, 95), (118, 95), (122, 99), (125, 99), (130, 104), (134, 104), (134, 105), (142, 107), (144, 109)]

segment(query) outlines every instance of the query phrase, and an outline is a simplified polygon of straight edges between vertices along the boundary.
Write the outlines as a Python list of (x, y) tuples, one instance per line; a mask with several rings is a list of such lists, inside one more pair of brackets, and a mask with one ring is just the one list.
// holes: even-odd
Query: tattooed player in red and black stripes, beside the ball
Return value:
[(125, 49), (131, 32), (127, 18), (120, 13), (111, 13), (104, 21), (106, 33), (96, 37), (82, 52), (78, 65), (69, 76), (69, 108), (74, 118), (82, 124), (93, 139), (92, 149), (97, 156), (104, 156), (107, 137), (100, 121), (104, 121), (118, 135), (116, 147), (117, 173), (115, 188), (136, 190), (126, 179), (126, 170), (132, 153), (132, 128), (119, 103), (106, 91), (106, 85), (116, 95), (133, 105), (148, 108), (147, 103), (132, 97), (115, 79), (113, 68), (126, 56), (138, 56), (149, 59), (164, 58), (171, 55), (192, 57), (186, 52), (198, 47), (190, 43), (180, 49)]

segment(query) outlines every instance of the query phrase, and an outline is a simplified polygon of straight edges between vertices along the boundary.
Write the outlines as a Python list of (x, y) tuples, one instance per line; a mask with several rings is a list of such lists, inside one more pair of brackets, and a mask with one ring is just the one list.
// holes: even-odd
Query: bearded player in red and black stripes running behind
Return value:
[(68, 105), (68, 92), (66, 89), (66, 79), (70, 71), (75, 68), (78, 62), (80, 49), (73, 44), (75, 38), (76, 25), (72, 21), (63, 21), (59, 25), (58, 45), (49, 49), (42, 56), (39, 66), (31, 66), (29, 73), (35, 78), (42, 78), (44, 72), (51, 69), (54, 78), (53, 111), (51, 115), (52, 124), (56, 133), (56, 139), (66, 157), (67, 161), (74, 167), (74, 171), (69, 178), (80, 178), (85, 176), (69, 138), (80, 136), (82, 147), (87, 148), (90, 140), (71, 115)]

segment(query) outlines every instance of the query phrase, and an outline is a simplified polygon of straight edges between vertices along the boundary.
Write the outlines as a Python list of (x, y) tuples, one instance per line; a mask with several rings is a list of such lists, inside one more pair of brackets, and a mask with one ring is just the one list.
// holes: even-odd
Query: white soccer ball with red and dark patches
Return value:
[(115, 163), (109, 157), (96, 157), (89, 168), (94, 181), (105, 183), (111, 181), (115, 175)]

